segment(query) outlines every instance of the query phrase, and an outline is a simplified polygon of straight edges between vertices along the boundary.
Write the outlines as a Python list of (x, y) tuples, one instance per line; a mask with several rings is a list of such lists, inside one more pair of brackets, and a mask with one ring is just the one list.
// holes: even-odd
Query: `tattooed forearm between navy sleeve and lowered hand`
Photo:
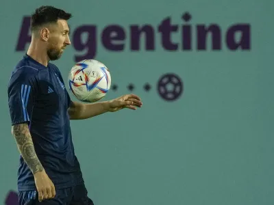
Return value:
[(12, 134), (16, 139), (18, 150), (29, 166), (29, 169), (32, 170), (32, 173), (35, 174), (36, 172), (42, 171), (44, 168), (34, 150), (34, 143), (27, 124), (16, 124), (12, 126)]

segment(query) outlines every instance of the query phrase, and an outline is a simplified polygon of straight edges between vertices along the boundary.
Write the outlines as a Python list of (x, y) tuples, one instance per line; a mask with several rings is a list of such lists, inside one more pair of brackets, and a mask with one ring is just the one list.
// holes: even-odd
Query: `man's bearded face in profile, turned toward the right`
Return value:
[(51, 61), (59, 59), (66, 49), (67, 45), (70, 45), (69, 40), (69, 25), (66, 20), (58, 20), (56, 25), (52, 25), (47, 45), (47, 55)]

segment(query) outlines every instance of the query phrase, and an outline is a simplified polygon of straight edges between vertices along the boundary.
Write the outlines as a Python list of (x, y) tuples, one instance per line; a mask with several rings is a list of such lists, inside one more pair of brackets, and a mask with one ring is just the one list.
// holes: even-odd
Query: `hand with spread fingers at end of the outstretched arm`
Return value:
[(119, 111), (123, 108), (136, 110), (136, 107), (142, 107), (141, 99), (134, 94), (127, 94), (109, 101), (108, 111)]

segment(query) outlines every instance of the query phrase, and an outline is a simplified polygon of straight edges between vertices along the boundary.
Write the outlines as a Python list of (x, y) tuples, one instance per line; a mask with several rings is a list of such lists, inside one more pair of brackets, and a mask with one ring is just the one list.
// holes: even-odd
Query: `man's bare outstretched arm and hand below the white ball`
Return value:
[(136, 110), (142, 107), (140, 98), (134, 94), (121, 96), (114, 100), (84, 104), (82, 102), (71, 101), (69, 107), (69, 117), (71, 120), (84, 120), (101, 115), (106, 112), (119, 111), (123, 108)]

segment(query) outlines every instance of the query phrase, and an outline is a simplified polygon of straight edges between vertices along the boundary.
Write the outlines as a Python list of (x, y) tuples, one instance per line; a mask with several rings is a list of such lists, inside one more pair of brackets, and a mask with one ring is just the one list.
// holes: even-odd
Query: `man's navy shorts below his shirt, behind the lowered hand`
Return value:
[(66, 189), (55, 189), (55, 193), (53, 199), (39, 202), (37, 191), (19, 191), (18, 205), (94, 205), (88, 197), (84, 184)]

